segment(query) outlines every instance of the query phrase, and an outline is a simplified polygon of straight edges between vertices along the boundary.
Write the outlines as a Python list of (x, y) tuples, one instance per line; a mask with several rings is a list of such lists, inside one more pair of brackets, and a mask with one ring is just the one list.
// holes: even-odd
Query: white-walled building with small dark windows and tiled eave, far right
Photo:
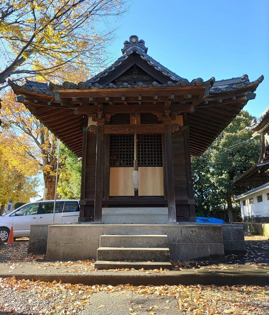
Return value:
[(235, 196), (234, 199), (240, 202), (243, 221), (269, 221), (269, 183)]

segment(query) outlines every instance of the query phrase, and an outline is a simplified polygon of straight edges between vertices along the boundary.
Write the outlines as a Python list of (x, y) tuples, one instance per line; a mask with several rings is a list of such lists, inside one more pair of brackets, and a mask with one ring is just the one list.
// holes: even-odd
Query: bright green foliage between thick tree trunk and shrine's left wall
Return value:
[(81, 159), (60, 144), (60, 179), (57, 192), (61, 199), (80, 199)]

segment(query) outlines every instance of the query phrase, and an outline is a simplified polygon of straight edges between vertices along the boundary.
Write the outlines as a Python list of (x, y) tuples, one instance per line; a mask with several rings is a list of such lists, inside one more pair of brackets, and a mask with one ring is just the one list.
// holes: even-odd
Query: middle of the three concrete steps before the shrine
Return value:
[(169, 248), (99, 247), (98, 261), (170, 261)]

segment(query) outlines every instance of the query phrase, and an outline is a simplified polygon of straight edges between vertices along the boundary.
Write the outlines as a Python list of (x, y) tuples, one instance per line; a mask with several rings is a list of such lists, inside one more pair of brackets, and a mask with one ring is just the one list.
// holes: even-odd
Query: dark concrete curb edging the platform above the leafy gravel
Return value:
[[(245, 268), (251, 269), (251, 268)], [(244, 270), (243, 273), (229, 271), (229, 272), (194, 272), (194, 269), (188, 269), (185, 271), (167, 271), (164, 273), (157, 272), (131, 272), (131, 271), (120, 271), (120, 272), (106, 272), (106, 271), (96, 271), (89, 272), (86, 274), (82, 273), (66, 273), (66, 274), (55, 274), (46, 273), (43, 270), (40, 272), (15, 272), (12, 274), (8, 272), (0, 271), (0, 278), (16, 277), (19, 279), (29, 279), (34, 281), (45, 281), (57, 282), (61, 281), (63, 283), (70, 284), (133, 284), (133, 285), (191, 285), (191, 284), (202, 284), (209, 285), (215, 284), (216, 286), (224, 285), (259, 285), (267, 286), (269, 285), (269, 274), (264, 271), (259, 270)]]

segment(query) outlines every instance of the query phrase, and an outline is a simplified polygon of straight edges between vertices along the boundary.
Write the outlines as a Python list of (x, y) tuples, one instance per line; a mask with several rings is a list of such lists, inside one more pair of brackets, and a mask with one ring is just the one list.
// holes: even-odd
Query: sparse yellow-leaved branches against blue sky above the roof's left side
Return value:
[(2, 0), (0, 90), (11, 76), (62, 81), (67, 74), (99, 70), (113, 39), (109, 17), (121, 17), (123, 5), (123, 0)]

